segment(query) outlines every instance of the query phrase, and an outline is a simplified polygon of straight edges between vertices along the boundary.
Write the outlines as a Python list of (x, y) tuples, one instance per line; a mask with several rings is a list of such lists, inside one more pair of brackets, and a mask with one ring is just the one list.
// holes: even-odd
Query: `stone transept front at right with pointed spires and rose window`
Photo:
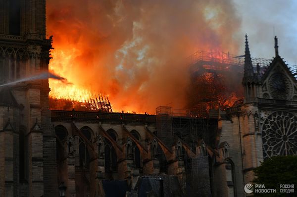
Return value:
[[(227, 142), (231, 172), (221, 169), (218, 194), (244, 197), (244, 186), (254, 179), (253, 169), (276, 155), (297, 154), (297, 80), (278, 52), (267, 67), (252, 65), (246, 35), (245, 98), (221, 113), (219, 142)], [(226, 172), (225, 172), (226, 171)], [(226, 181), (226, 184), (224, 184)], [(232, 182), (232, 184), (228, 184)]]

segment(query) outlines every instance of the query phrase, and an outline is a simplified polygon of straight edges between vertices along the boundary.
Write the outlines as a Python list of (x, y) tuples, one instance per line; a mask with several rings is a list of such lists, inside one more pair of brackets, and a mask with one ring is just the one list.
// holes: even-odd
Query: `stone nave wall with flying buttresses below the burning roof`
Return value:
[[(166, 146), (156, 134), (155, 115), (52, 110), (51, 122), (61, 153), (58, 182), (67, 185), (69, 197), (102, 196), (102, 180), (127, 180), (133, 190), (140, 176), (164, 172), (177, 177), (185, 194), (191, 186), (192, 195), (211, 195), (209, 159), (216, 151), (203, 140), (194, 151), (172, 134), (176, 140)], [(186, 166), (186, 158), (195, 166)]]

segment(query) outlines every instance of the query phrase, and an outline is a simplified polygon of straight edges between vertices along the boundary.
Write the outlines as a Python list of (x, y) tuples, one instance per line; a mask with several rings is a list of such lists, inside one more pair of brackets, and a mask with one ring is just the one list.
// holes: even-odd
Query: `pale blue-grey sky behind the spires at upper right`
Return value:
[[(280, 56), (287, 64), (297, 64), (297, 0), (234, 0), (234, 3), (241, 17), (239, 34), (247, 33), (251, 56), (275, 56), (276, 35)], [(244, 44), (240, 51), (244, 52)]]

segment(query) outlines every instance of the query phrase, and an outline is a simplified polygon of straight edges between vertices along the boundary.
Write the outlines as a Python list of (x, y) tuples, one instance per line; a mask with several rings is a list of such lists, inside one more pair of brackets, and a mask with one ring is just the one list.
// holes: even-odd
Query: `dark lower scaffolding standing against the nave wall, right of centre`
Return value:
[[(202, 114), (202, 112), (195, 113)], [(196, 153), (198, 142), (201, 139), (206, 144), (212, 146), (212, 141), (214, 141), (216, 136), (217, 117), (210, 118), (208, 115), (196, 117), (192, 114), (191, 110), (172, 109), (170, 106), (159, 106), (156, 108), (157, 136), (168, 148), (171, 148), (172, 142), (176, 138), (186, 143), (194, 153)], [(193, 189), (193, 192), (209, 191), (207, 188), (210, 187), (210, 184), (205, 182), (205, 180), (209, 180), (209, 177), (205, 177), (209, 176), (208, 157), (190, 157), (184, 148), (182, 152), (187, 173), (187, 183)], [(159, 155), (160, 170), (164, 171), (167, 167), (166, 158), (162, 152), (159, 152)], [(197, 183), (198, 179), (204, 180), (200, 180), (200, 183)], [(204, 185), (201, 185), (201, 183)], [(203, 192), (203, 194), (205, 193)]]

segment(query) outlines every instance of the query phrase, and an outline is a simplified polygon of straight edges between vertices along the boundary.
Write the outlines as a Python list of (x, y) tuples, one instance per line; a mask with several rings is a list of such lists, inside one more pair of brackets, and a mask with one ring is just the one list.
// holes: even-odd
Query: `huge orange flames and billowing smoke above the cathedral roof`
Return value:
[(50, 80), (53, 99), (84, 102), (101, 93), (114, 111), (183, 108), (190, 83), (185, 57), (198, 49), (237, 53), (240, 20), (231, 0), (47, 3), (55, 48), (49, 68), (71, 83)]

